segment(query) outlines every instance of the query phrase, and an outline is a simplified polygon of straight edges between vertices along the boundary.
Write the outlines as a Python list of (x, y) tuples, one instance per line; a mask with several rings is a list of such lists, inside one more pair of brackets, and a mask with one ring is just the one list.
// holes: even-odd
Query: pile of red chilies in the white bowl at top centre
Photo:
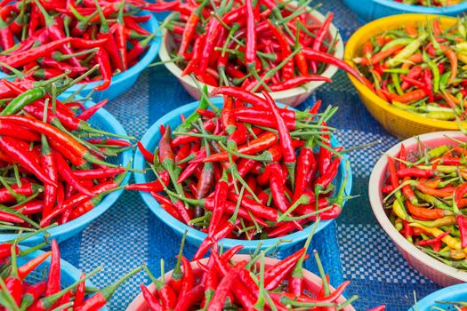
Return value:
[(174, 7), (178, 14), (166, 21), (174, 42), (169, 52), (183, 76), (192, 73), (205, 84), (236, 85), (252, 92), (330, 82), (319, 76), (328, 65), (359, 79), (354, 68), (333, 56), (333, 13), (321, 24), (312, 16), (310, 2), (188, 1)]

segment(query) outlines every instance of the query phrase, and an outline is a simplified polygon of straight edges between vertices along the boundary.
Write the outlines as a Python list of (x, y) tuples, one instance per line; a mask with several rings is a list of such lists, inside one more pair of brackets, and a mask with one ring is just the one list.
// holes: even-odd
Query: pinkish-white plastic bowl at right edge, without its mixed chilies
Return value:
[[(462, 132), (432, 132), (418, 136), (418, 139), (423, 142), (427, 147), (434, 148), (441, 144), (453, 144), (453, 140), (447, 139), (453, 137), (457, 140), (467, 141), (467, 137)], [(400, 145), (404, 144), (407, 153), (417, 149), (417, 137), (399, 142), (396, 146), (386, 151), (378, 162), (374, 165), (374, 169), (370, 176), (368, 194), (370, 197), (370, 204), (374, 212), (374, 216), (384, 229), (384, 231), (391, 237), (392, 242), (397, 246), (400, 253), (407, 260), (408, 264), (414, 267), (422, 275), (428, 277), (434, 283), (440, 286), (449, 286), (456, 283), (467, 282), (467, 272), (460, 271), (454, 267), (449, 267), (441, 261), (432, 258), (430, 255), (418, 250), (414, 244), (409, 243), (406, 238), (399, 233), (399, 231), (392, 225), (386, 212), (382, 207), (382, 193), (381, 188), (386, 179), (386, 166), (388, 163), (388, 156), (398, 156)], [(386, 156), (387, 155), (387, 156)]]

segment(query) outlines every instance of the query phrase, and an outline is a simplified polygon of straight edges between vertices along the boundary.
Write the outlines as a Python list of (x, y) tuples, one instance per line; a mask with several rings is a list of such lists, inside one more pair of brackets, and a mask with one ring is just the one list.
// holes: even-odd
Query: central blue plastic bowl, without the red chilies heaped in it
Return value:
[[(222, 106), (223, 100), (221, 98), (213, 98), (211, 99), (213, 103), (217, 106), (220, 107)], [(149, 150), (154, 150), (154, 148), (157, 147), (158, 141), (161, 138), (161, 133), (160, 133), (160, 125), (167, 125), (169, 124), (171, 128), (176, 128), (179, 124), (181, 124), (180, 121), (180, 115), (182, 114), (183, 116), (189, 116), (198, 106), (198, 101), (192, 102), (188, 105), (182, 106), (181, 108), (177, 108), (173, 110), (172, 112), (166, 114), (165, 116), (161, 117), (160, 119), (157, 120), (155, 124), (153, 124), (148, 132), (144, 134), (144, 136), (141, 139), (141, 143), (143, 146), (148, 148)], [(280, 105), (281, 107), (284, 107), (284, 105)], [(331, 140), (331, 144), (333, 147), (338, 147), (340, 146), (339, 142), (335, 140), (334, 138)], [(347, 156), (345, 156), (346, 159), (348, 159)], [(136, 151), (135, 156), (134, 156), (134, 161), (133, 161), (133, 166), (134, 169), (136, 170), (142, 170), (146, 166), (146, 161), (144, 160), (144, 157), (141, 155), (141, 152), (139, 150)], [(337, 174), (337, 180), (339, 180), (338, 184), (336, 187), (339, 187), (340, 184), (342, 183), (342, 179), (345, 174), (345, 161), (342, 161), (340, 167), (339, 167), (339, 172)], [(134, 173), (134, 179), (136, 182), (148, 182), (149, 176), (147, 174), (142, 174), (142, 173)], [(349, 171), (349, 178), (347, 179), (347, 185), (345, 186), (345, 194), (350, 195), (352, 187), (352, 175), (351, 171)], [(144, 193), (141, 192), (141, 197), (143, 201), (149, 206), (149, 209), (154, 212), (157, 216), (158, 219), (161, 219), (165, 224), (173, 229), (175, 233), (178, 235), (183, 235), (186, 229), (188, 229), (188, 235), (187, 235), (187, 241), (189, 243), (192, 243), (194, 245), (199, 245), (203, 240), (205, 240), (205, 237), (207, 236), (205, 233), (198, 231), (192, 227), (189, 227), (179, 221), (178, 219), (173, 218), (172, 215), (170, 215), (167, 211), (165, 211), (159, 203), (151, 196), (149, 193)], [(326, 220), (326, 221), (321, 221), (318, 224), (317, 232), (320, 230), (324, 229), (326, 226), (328, 226), (331, 221), (333, 220)], [(247, 240), (238, 240), (238, 239), (222, 239), (221, 244), (223, 244), (224, 247), (226, 248), (232, 248), (238, 244), (244, 245), (243, 251), (254, 251), (259, 243), (262, 243), (262, 249), (268, 248), (270, 245), (277, 243), (279, 240), (287, 240), (289, 242), (286, 243), (281, 243), (279, 247), (281, 249), (285, 249), (287, 247), (290, 247), (294, 245), (294, 243), (301, 242), (305, 240), (308, 235), (310, 235), (311, 232), (311, 227), (306, 227), (302, 231), (295, 232), (291, 235), (285, 235), (280, 238), (271, 238), (271, 239), (264, 239), (264, 240), (254, 240), (254, 241), (247, 241)]]

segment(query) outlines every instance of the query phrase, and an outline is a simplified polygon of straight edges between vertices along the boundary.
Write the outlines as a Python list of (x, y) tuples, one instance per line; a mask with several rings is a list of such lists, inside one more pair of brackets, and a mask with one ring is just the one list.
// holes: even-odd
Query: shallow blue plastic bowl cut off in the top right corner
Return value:
[(391, 0), (342, 0), (342, 2), (365, 22), (403, 13), (456, 16), (467, 10), (467, 2), (443, 7), (400, 4)]

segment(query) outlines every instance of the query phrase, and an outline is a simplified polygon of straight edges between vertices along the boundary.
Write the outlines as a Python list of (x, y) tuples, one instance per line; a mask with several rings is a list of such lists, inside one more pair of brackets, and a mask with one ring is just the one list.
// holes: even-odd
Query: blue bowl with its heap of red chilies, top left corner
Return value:
[(67, 5), (11, 1), (0, 8), (0, 70), (11, 72), (12, 67), (47, 80), (66, 71), (80, 76), (98, 64), (84, 84), (69, 91), (94, 90), (97, 101), (128, 91), (159, 49), (157, 20), (148, 11), (154, 4), (100, 0)]

